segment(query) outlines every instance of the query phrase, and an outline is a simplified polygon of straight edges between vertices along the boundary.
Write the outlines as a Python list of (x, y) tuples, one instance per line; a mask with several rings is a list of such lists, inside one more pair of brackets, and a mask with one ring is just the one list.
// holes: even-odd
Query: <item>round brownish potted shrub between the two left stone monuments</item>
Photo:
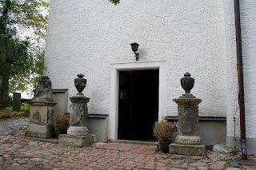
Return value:
[(58, 113), (57, 116), (54, 118), (56, 136), (58, 137), (59, 134), (66, 134), (66, 129), (69, 127), (69, 125), (69, 117), (62, 113)]

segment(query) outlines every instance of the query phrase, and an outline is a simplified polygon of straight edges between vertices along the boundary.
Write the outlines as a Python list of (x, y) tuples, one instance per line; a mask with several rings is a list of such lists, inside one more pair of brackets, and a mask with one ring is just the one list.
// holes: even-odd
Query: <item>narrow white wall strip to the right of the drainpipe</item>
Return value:
[[(242, 55), (246, 106), (246, 136), (256, 144), (256, 2), (241, 3)], [(256, 148), (256, 145), (255, 145)]]

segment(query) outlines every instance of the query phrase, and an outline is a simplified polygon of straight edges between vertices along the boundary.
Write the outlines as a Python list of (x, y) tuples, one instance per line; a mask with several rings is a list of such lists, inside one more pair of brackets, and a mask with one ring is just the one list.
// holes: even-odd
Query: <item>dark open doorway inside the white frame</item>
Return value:
[(155, 140), (159, 69), (119, 72), (118, 139)]

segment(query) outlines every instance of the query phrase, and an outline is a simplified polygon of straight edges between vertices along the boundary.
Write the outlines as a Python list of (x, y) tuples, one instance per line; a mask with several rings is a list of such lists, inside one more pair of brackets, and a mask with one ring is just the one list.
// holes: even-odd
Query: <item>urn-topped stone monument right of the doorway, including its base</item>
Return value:
[(198, 136), (198, 105), (202, 100), (190, 94), (194, 87), (194, 78), (190, 77), (190, 73), (184, 74), (181, 84), (186, 93), (173, 100), (178, 104), (178, 136), (175, 143), (170, 144), (169, 152), (202, 156), (206, 148)]

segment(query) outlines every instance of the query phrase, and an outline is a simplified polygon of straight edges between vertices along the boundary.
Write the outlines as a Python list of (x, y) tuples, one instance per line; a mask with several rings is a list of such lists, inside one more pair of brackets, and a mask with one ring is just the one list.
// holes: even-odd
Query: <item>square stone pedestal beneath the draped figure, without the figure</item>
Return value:
[(26, 128), (25, 136), (39, 138), (53, 138), (54, 105), (53, 101), (30, 102), (30, 125)]

